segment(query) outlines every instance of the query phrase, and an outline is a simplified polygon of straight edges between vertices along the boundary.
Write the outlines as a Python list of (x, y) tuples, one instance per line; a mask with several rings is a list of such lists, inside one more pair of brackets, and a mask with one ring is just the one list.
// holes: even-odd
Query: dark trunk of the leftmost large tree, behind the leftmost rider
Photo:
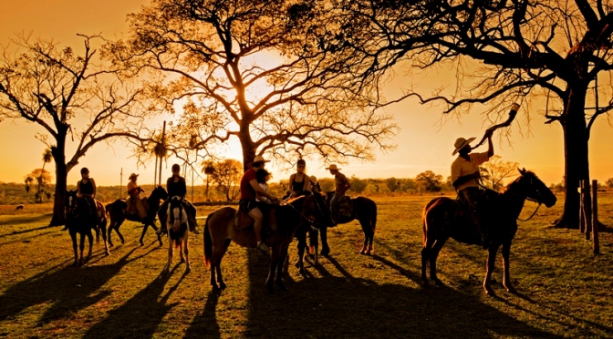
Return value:
[(51, 148), (53, 159), (56, 162), (56, 193), (53, 195), (53, 217), (51, 217), (49, 226), (60, 226), (66, 224), (66, 218), (64, 216), (64, 201), (66, 199), (66, 186), (68, 180), (68, 167), (66, 165), (67, 131), (68, 128), (66, 128), (63, 133), (61, 130), (58, 130), (56, 139), (57, 146)]

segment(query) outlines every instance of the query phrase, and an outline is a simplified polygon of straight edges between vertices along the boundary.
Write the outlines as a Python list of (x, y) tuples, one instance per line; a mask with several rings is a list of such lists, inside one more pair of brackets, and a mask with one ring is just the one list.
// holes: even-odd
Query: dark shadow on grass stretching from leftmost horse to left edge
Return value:
[(128, 259), (135, 250), (111, 265), (81, 268), (65, 266), (16, 283), (0, 295), (0, 321), (15, 317), (31, 306), (52, 303), (40, 319), (40, 322), (47, 323), (98, 303), (110, 293), (100, 290), (106, 282), (119, 273), (122, 267), (149, 253)]

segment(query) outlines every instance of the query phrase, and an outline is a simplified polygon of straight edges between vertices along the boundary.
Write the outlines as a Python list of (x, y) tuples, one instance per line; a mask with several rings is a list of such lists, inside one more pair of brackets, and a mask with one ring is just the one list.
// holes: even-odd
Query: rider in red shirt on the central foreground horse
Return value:
[(240, 186), (241, 199), (238, 201), (239, 209), (243, 210), (255, 221), (254, 231), (255, 239), (257, 240), (257, 248), (263, 252), (268, 252), (270, 249), (268, 248), (268, 245), (262, 241), (262, 224), (264, 222), (264, 214), (260, 209), (260, 202), (255, 199), (257, 198), (257, 195), (260, 195), (271, 200), (273, 203), (279, 202), (278, 198), (263, 190), (257, 182), (257, 176), (255, 173), (257, 170), (264, 169), (266, 162), (268, 162), (268, 160), (265, 160), (264, 157), (256, 156), (254, 161), (247, 165), (250, 167), (250, 169), (244, 171)]

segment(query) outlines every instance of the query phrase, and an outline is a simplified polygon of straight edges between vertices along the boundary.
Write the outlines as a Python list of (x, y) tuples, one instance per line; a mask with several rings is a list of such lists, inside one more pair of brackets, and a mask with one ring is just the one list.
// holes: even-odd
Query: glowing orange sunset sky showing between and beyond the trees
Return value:
[[(6, 45), (8, 39), (16, 32), (33, 32), (34, 36), (52, 37), (62, 45), (82, 46), (76, 36), (81, 34), (99, 34), (108, 38), (125, 32), (127, 25), (125, 15), (137, 11), (145, 0), (2, 0), (0, 11), (0, 43)], [(397, 70), (398, 71), (398, 70)], [(399, 73), (401, 71), (398, 71)], [(453, 79), (453, 69), (431, 72), (421, 78), (408, 78), (398, 74), (385, 88), (388, 98), (400, 93), (410, 82), (419, 85), (429, 93), (428, 88), (439, 87), (448, 79)], [(534, 108), (542, 109), (542, 108)], [(388, 154), (379, 154), (376, 162), (362, 163), (350, 161), (341, 166), (346, 175), (361, 178), (412, 178), (424, 170), (433, 170), (443, 177), (450, 175), (453, 160), (451, 155), (453, 141), (458, 137), (483, 136), (484, 128), (480, 111), (475, 108), (470, 115), (460, 120), (452, 119), (440, 126), (442, 118), (440, 108), (422, 107), (414, 100), (406, 100), (387, 108), (393, 113), (401, 128), (396, 137), (398, 149)], [(512, 126), (512, 145), (506, 139), (497, 139), (494, 135), (495, 152), (505, 161), (519, 162), (520, 166), (535, 170), (545, 183), (560, 182), (564, 175), (564, 147), (562, 128), (559, 125), (545, 125), (545, 118), (533, 114), (527, 125), (525, 110), (520, 110)], [(530, 130), (530, 133), (528, 133)], [(0, 123), (0, 181), (22, 182), (31, 170), (42, 165), (41, 154), (45, 146), (34, 139), (36, 132), (43, 129), (33, 124), (5, 120)], [(604, 182), (613, 177), (613, 159), (611, 157), (610, 135), (613, 129), (605, 118), (600, 118), (593, 127), (590, 140), (590, 168), (593, 179)], [(18, 146), (18, 147), (17, 147)], [(483, 149), (484, 150), (484, 149)], [(233, 142), (226, 154), (227, 158), (240, 159), (238, 143)], [(48, 165), (47, 165), (48, 166)], [(153, 164), (147, 168), (137, 168), (135, 159), (130, 159), (130, 152), (119, 142), (111, 146), (99, 144), (88, 151), (79, 161), (78, 168), (68, 174), (68, 182), (76, 182), (78, 169), (86, 166), (91, 176), (99, 185), (119, 184), (119, 170), (123, 168), (123, 184), (126, 184), (130, 172), (139, 172), (140, 183), (151, 183)], [(309, 161), (309, 174), (317, 177), (330, 177), (324, 165)], [(289, 172), (273, 169), (275, 180), (285, 179)], [(165, 166), (164, 176), (170, 174), (170, 164)], [(191, 176), (188, 175), (188, 181)], [(202, 181), (196, 181), (200, 184)]]

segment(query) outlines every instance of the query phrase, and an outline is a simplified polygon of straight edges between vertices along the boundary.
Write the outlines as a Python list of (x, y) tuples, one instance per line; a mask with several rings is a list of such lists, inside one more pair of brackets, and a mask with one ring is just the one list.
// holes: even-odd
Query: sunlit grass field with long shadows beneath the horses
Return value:
[[(613, 225), (613, 196), (599, 200), (600, 220)], [(0, 208), (0, 335), (15, 337), (613, 337), (613, 235), (600, 234), (601, 253), (575, 230), (548, 227), (562, 200), (520, 222), (511, 252), (516, 294), (481, 286), (486, 252), (448, 241), (439, 258), (445, 286), (420, 286), (421, 209), (431, 197), (375, 199), (375, 255), (357, 254), (357, 222), (329, 231), (332, 248), (307, 276), (292, 265), (289, 291), (265, 291), (267, 259), (231, 245), (223, 261), (228, 288), (211, 293), (203, 238), (191, 234), (192, 272), (172, 266), (161, 275), (167, 247), (153, 233), (121, 226), (126, 243), (104, 256), (101, 243), (73, 267), (67, 231), (48, 228), (51, 206)], [(526, 204), (524, 217), (535, 205)], [(199, 207), (199, 215), (214, 208)], [(202, 227), (201, 227), (202, 229)], [(119, 243), (119, 245), (117, 245)], [(86, 250), (87, 251), (87, 250)], [(290, 247), (296, 259), (296, 241)]]

